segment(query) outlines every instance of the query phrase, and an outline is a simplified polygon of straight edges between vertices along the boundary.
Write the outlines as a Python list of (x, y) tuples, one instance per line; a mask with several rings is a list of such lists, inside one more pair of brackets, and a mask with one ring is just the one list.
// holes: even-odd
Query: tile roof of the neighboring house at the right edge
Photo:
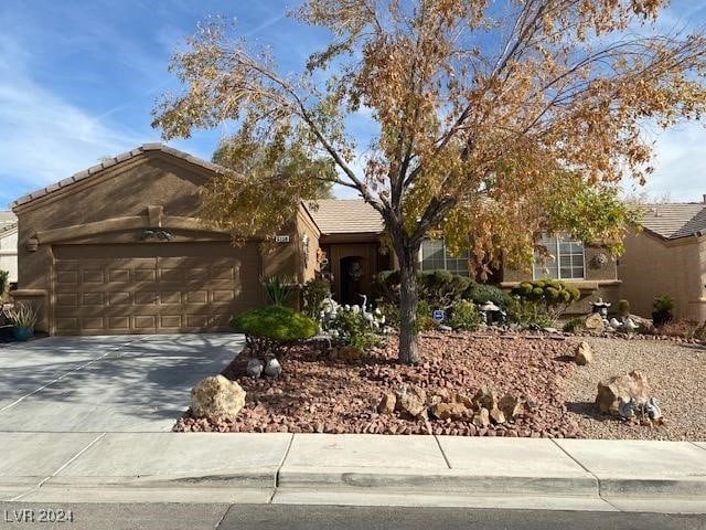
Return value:
[(665, 240), (706, 234), (706, 203), (649, 204), (640, 223)]

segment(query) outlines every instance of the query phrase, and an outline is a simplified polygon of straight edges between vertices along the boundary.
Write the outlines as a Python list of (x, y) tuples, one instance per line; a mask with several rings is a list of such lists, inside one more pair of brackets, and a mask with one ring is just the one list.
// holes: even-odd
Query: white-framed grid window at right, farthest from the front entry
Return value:
[(568, 236), (543, 235), (539, 245), (549, 253), (548, 258), (539, 254), (534, 261), (534, 279), (584, 279), (586, 259), (584, 243)]

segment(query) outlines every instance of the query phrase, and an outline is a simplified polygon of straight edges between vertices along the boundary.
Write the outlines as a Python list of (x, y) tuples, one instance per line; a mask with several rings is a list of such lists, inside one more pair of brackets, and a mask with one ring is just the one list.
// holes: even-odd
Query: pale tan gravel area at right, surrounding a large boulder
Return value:
[[(576, 367), (565, 382), (569, 415), (585, 437), (706, 441), (706, 347), (661, 340), (586, 340), (593, 349), (593, 362)], [(646, 375), (664, 425), (649, 427), (598, 412), (598, 382), (632, 370)]]

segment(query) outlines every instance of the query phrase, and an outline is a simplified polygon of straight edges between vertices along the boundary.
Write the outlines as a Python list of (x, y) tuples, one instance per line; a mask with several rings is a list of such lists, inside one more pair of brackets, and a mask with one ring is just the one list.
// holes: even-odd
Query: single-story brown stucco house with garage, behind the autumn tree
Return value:
[[(218, 168), (161, 144), (147, 144), (19, 199), (19, 289), (41, 306), (38, 329), (52, 335), (160, 333), (227, 329), (229, 318), (266, 303), (259, 278), (298, 283), (323, 268), (334, 296), (360, 303), (374, 275), (394, 266), (384, 223), (361, 200), (301, 205), (265, 250), (261, 240), (233, 246), (231, 234), (199, 219), (201, 186)], [(601, 248), (547, 240), (555, 265), (535, 277), (574, 282), (588, 299), (614, 299), (619, 282)], [(466, 259), (427, 241), (422, 269), (468, 274)], [(503, 286), (527, 275), (502, 271)]]

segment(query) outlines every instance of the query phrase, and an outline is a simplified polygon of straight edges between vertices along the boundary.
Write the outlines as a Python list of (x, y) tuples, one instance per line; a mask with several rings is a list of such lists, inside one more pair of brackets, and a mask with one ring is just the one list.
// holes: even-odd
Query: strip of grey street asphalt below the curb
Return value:
[[(56, 517), (57, 513), (65, 519), (71, 515), (72, 520), (40, 522), (40, 518)], [(706, 516), (277, 505), (0, 504), (0, 529), (33, 528), (45, 530), (596, 530), (597, 528), (697, 530), (706, 529)]]

